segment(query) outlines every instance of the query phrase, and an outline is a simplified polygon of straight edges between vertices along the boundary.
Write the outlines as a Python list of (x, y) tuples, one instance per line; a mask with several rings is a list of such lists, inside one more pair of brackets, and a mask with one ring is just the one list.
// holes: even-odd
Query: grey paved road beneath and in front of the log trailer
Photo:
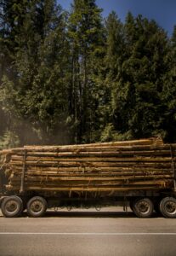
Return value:
[(0, 255), (175, 256), (176, 219), (141, 219), (115, 208), (0, 217)]

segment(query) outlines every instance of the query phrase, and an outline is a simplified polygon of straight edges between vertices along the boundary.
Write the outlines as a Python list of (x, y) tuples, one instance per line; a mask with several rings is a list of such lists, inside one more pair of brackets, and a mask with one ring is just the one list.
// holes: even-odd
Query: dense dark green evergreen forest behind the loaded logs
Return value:
[(176, 26), (95, 0), (0, 0), (0, 148), (176, 142)]

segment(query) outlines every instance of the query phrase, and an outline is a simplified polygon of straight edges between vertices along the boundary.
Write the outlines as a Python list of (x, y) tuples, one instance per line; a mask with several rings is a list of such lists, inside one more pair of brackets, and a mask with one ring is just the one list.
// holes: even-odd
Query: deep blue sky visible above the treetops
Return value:
[[(70, 9), (71, 0), (58, 0), (63, 9)], [(171, 35), (173, 26), (176, 25), (176, 0), (97, 0), (97, 5), (104, 9), (103, 15), (107, 16), (112, 10), (124, 21), (128, 11), (134, 16), (143, 15), (154, 19)]]

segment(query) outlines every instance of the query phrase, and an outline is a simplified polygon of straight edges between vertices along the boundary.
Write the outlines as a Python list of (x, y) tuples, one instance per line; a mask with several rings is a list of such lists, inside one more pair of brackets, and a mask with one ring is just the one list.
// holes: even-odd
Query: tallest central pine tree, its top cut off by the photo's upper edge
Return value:
[[(95, 77), (102, 60), (104, 32), (101, 9), (94, 0), (75, 0), (70, 16), (72, 80), (71, 118), (75, 142), (91, 141), (94, 129), (96, 103)], [(94, 105), (95, 104), (95, 105)]]

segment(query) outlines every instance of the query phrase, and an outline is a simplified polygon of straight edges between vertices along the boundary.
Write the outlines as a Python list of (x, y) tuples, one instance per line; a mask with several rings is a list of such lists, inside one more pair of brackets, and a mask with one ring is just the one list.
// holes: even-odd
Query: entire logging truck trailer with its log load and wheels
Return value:
[(49, 208), (117, 206), (139, 218), (176, 218), (176, 144), (150, 138), (0, 151), (5, 217), (42, 217)]

